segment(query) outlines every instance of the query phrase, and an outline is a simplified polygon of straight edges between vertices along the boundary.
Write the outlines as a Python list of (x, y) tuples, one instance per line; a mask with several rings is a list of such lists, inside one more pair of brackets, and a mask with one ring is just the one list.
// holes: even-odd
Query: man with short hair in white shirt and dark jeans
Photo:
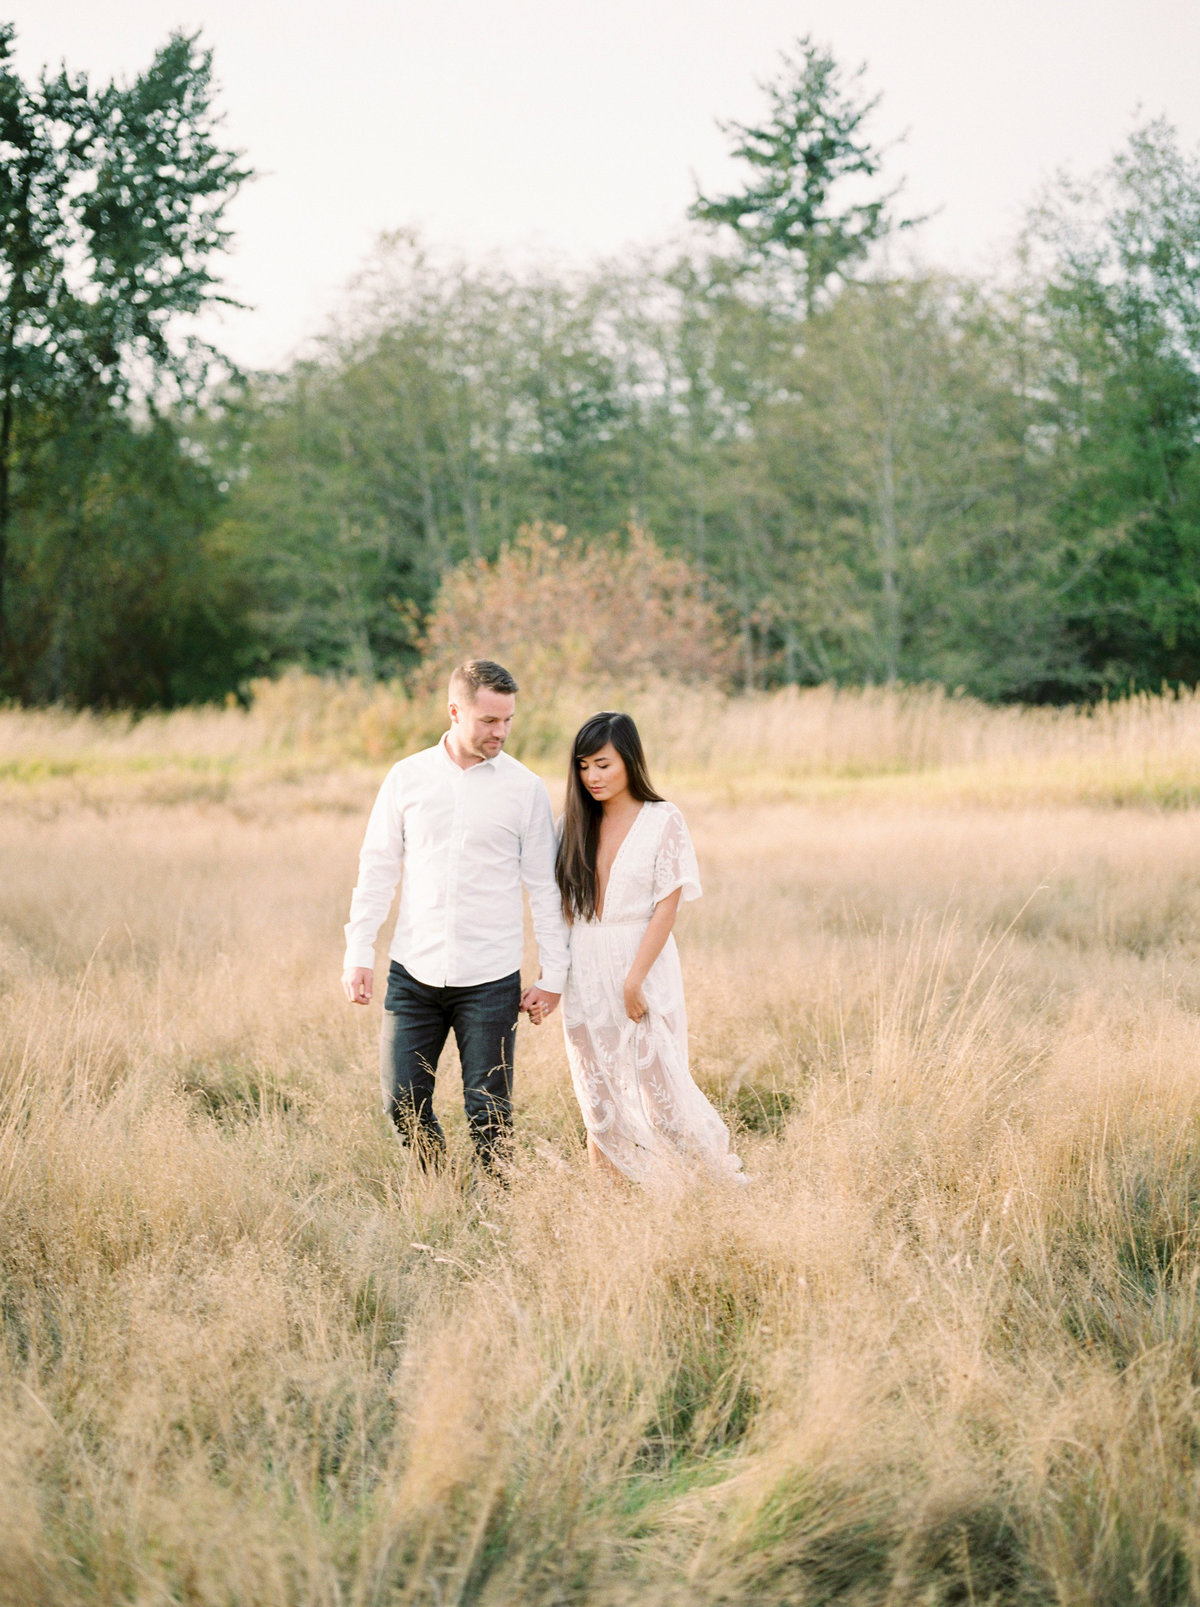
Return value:
[[(540, 1024), (567, 980), (567, 927), (554, 882), (545, 784), (504, 752), (517, 683), (471, 659), (450, 677), (450, 730), (394, 765), (374, 800), (345, 927), (342, 987), (368, 1004), (374, 940), (403, 869), (390, 948), (379, 1080), (384, 1110), (422, 1163), (445, 1136), (434, 1115), (437, 1057), (453, 1030), (476, 1152), (488, 1170), (512, 1127), (517, 1014)], [(522, 882), (540, 980), (520, 992)]]

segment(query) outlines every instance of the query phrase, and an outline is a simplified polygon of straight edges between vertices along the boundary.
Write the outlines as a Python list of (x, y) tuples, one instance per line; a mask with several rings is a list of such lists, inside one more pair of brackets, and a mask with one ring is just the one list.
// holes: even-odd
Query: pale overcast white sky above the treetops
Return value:
[(893, 175), (940, 209), (922, 256), (985, 265), (1060, 167), (1141, 116), (1200, 143), (1200, 0), (8, 0), (24, 71), (143, 67), (173, 27), (215, 50), (238, 199), (218, 339), (268, 366), (315, 333), (374, 238), (418, 225), (469, 256), (618, 254), (678, 230), (696, 178), (734, 178), (718, 117), (800, 34), (884, 92)]

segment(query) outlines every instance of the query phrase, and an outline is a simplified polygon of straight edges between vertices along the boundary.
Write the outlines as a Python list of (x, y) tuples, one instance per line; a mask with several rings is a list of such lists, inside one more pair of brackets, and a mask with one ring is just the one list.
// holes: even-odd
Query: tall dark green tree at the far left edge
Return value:
[[(220, 143), (210, 56), (194, 39), (173, 35), (130, 84), (101, 87), (66, 69), (27, 84), (13, 48), (3, 24), (0, 677), (18, 696), (72, 697), (95, 485), (129, 463), (130, 427), (153, 435), (209, 378), (215, 354), (188, 320), (223, 299), (215, 259), (247, 172)], [(39, 596), (14, 599), (14, 587)]]

